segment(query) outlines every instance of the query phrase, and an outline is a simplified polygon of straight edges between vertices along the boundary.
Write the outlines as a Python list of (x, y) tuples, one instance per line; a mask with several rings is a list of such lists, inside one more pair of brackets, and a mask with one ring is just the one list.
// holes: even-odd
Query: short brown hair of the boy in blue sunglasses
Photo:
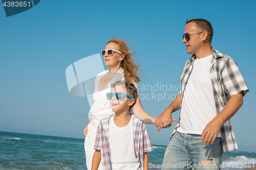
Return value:
[(124, 79), (124, 81), (115, 82), (114, 84), (111, 85), (111, 88), (114, 88), (115, 86), (118, 86), (118, 85), (125, 86), (126, 93), (131, 95), (135, 100), (134, 104), (129, 108), (129, 111), (131, 112), (138, 98), (138, 90), (135, 87), (135, 85), (129, 82), (126, 78)]

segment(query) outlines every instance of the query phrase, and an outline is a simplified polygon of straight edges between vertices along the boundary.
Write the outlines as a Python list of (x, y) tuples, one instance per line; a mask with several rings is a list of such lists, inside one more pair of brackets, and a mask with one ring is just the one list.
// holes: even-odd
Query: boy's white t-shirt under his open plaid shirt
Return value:
[(109, 124), (109, 147), (113, 170), (139, 170), (140, 164), (136, 157), (133, 137), (133, 120), (125, 127), (117, 127), (114, 116)]

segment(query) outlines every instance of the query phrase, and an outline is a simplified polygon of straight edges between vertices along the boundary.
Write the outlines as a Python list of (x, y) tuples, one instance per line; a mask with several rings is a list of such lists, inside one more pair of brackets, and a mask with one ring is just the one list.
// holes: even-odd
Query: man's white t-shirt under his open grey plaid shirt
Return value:
[[(201, 134), (217, 115), (209, 68), (211, 55), (194, 61), (180, 112), (178, 132)], [(219, 133), (217, 137), (221, 137)]]

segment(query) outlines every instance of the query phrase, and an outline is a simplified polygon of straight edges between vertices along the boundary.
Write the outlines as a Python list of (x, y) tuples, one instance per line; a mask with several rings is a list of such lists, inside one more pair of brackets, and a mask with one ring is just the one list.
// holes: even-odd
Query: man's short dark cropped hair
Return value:
[(186, 24), (190, 22), (195, 22), (199, 31), (206, 31), (208, 33), (208, 41), (211, 43), (212, 36), (214, 35), (214, 29), (212, 29), (210, 22), (206, 19), (191, 19), (187, 20)]

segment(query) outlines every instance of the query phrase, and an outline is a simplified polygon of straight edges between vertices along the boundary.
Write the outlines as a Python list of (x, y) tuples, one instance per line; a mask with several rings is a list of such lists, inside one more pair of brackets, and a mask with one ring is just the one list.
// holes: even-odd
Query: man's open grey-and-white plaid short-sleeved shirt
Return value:
[[(186, 62), (183, 74), (181, 75), (181, 106), (184, 91), (186, 88), (187, 81), (193, 70), (193, 63), (195, 61), (195, 54)], [(228, 100), (233, 94), (238, 94), (242, 91), (243, 96), (249, 91), (245, 81), (238, 69), (238, 65), (234, 60), (227, 55), (219, 53), (217, 50), (212, 48), (212, 58), (210, 61), (210, 75), (212, 88), (215, 99), (215, 107), (217, 114), (222, 111), (226, 106)], [(180, 127), (180, 116), (179, 120), (174, 127), (174, 132), (170, 137), (177, 132), (177, 128)], [(231, 120), (227, 120), (221, 126), (221, 138), (224, 152), (238, 150), (236, 138), (234, 137)]]

